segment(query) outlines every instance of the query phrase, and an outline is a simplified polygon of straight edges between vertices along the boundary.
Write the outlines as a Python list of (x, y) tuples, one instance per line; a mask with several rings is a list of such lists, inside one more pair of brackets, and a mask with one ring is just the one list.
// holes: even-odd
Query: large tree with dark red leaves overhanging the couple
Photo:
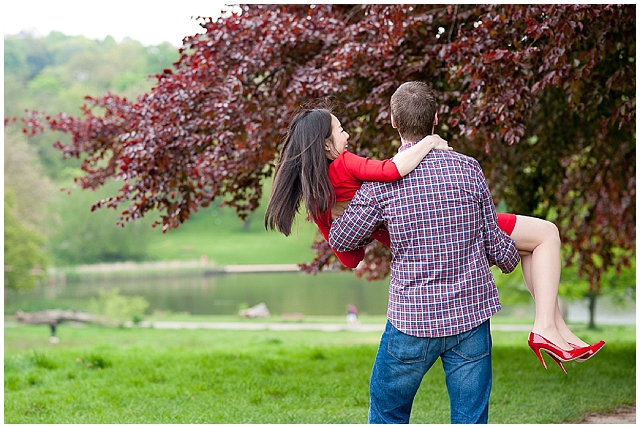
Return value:
[[(82, 160), (77, 185), (119, 180), (94, 208), (130, 203), (175, 228), (214, 198), (243, 218), (273, 173), (297, 107), (332, 97), (358, 154), (390, 157), (389, 99), (409, 80), (441, 96), (438, 133), (478, 158), (509, 211), (555, 221), (593, 290), (635, 248), (635, 5), (249, 5), (203, 19), (173, 70), (135, 101), (86, 99), (83, 114), (32, 113), (30, 133)], [(389, 142), (394, 140), (394, 144)], [(314, 244), (310, 272), (335, 265)], [(370, 246), (370, 278), (389, 271)]]

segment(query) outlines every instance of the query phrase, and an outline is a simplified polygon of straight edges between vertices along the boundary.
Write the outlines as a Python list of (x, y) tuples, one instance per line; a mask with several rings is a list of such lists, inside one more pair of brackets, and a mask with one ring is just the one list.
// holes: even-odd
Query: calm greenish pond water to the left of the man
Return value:
[[(348, 303), (361, 314), (384, 315), (388, 280), (368, 282), (349, 272), (307, 275), (287, 273), (227, 273), (214, 276), (120, 278), (45, 285), (8, 296), (7, 304), (28, 310), (60, 306), (84, 307), (100, 289), (118, 288), (122, 295), (143, 296), (154, 311), (194, 315), (233, 315), (240, 305), (266, 303), (272, 314), (344, 315)], [(84, 304), (83, 304), (84, 302)], [(28, 306), (28, 307), (27, 307)]]

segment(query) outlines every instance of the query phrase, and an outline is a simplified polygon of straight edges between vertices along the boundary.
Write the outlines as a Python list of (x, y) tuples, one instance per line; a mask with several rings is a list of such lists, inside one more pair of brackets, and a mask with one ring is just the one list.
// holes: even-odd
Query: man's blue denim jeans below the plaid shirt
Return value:
[(487, 423), (491, 393), (489, 321), (447, 337), (415, 337), (389, 321), (369, 383), (369, 423), (409, 423), (422, 378), (439, 358), (449, 392), (452, 424)]

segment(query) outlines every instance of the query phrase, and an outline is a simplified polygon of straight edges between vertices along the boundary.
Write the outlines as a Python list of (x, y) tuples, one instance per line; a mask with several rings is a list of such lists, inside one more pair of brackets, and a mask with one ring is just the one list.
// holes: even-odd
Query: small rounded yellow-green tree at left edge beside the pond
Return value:
[(48, 258), (43, 236), (26, 227), (12, 212), (13, 193), (4, 194), (4, 286), (31, 288), (45, 277)]

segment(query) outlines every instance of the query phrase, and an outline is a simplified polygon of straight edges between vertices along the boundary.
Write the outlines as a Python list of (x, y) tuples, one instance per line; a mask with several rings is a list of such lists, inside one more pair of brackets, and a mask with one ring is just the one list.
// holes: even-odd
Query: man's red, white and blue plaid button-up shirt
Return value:
[(393, 254), (387, 317), (398, 330), (418, 337), (451, 336), (500, 310), (489, 266), (509, 273), (520, 257), (498, 227), (475, 159), (432, 150), (402, 180), (365, 182), (333, 222), (329, 243), (338, 251), (359, 248), (381, 222)]

